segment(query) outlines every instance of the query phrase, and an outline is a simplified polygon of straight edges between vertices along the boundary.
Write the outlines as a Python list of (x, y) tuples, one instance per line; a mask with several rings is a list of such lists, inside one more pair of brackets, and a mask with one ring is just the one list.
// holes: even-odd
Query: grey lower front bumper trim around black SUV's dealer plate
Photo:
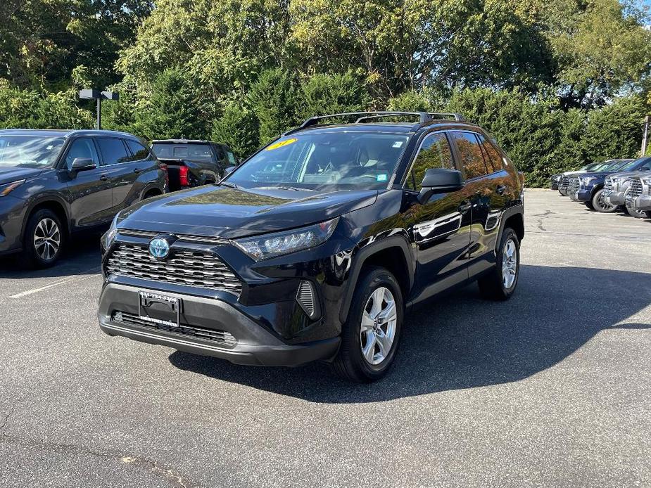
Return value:
[[(140, 290), (130, 285), (106, 284), (99, 302), (101, 330), (108, 335), (254, 366), (298, 366), (331, 359), (339, 349), (339, 337), (288, 345), (233, 305), (193, 295), (163, 292), (182, 300), (180, 329), (147, 323), (138, 319)], [(220, 339), (223, 337), (234, 340)]]

